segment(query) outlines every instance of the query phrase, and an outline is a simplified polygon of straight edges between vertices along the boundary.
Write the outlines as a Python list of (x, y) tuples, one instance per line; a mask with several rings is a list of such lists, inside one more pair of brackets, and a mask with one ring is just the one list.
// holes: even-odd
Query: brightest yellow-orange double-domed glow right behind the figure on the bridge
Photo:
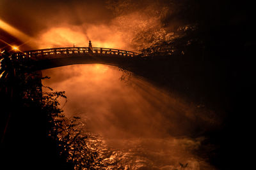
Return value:
[[(89, 35), (89, 36), (88, 36)], [(83, 27), (74, 27), (67, 25), (66, 27), (53, 27), (36, 39), (38, 48), (55, 48), (63, 46), (88, 46), (89, 37), (92, 39), (92, 45), (104, 48), (120, 48), (127, 50), (125, 41), (120, 34), (116, 34), (106, 26), (92, 26), (87, 32), (83, 31)]]

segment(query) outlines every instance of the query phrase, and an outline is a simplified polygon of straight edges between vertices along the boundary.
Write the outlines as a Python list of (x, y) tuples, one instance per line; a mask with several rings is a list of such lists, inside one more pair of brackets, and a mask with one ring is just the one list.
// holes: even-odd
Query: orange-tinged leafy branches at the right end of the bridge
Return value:
[(161, 29), (154, 34), (152, 43), (141, 49), (142, 57), (170, 57), (185, 53), (197, 52), (204, 48), (202, 39), (198, 39), (197, 25), (184, 25), (176, 32), (166, 32)]

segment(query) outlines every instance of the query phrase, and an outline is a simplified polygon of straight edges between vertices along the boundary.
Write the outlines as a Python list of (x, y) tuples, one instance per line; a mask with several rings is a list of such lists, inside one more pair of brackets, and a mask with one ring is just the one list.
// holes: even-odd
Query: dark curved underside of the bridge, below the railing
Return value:
[(41, 57), (41, 59), (24, 59), (24, 63), (31, 66), (33, 70), (50, 69), (53, 67), (68, 66), (73, 64), (107, 64), (118, 67), (129, 67), (132, 63), (138, 62), (136, 56), (134, 57), (120, 57), (120, 55), (100, 55), (100, 54), (85, 54), (85, 55), (58, 55)]

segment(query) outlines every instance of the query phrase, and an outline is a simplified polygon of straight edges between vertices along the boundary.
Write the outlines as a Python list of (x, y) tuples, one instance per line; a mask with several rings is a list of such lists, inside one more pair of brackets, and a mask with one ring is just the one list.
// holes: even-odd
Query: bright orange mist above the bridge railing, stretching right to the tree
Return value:
[[(35, 38), (38, 48), (56, 48), (63, 46), (88, 46), (92, 40), (94, 47), (116, 48), (138, 51), (138, 34), (150, 34), (148, 30), (159, 25), (159, 17), (148, 17), (138, 12), (114, 18), (109, 24), (55, 25), (51, 29), (40, 32)], [(40, 41), (38, 41), (40, 39)]]

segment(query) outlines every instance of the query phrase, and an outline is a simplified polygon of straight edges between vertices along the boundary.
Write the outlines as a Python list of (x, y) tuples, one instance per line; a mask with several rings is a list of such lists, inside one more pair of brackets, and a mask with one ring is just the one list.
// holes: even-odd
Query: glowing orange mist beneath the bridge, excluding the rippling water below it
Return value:
[[(125, 76), (117, 67), (79, 64), (46, 69), (43, 75), (51, 77), (43, 81), (46, 86), (66, 91), (68, 103), (63, 110), (68, 117), (80, 108), (77, 116), (86, 116), (90, 129), (109, 138), (136, 133), (164, 136), (170, 129), (175, 134), (189, 134), (195, 131), (192, 127), (204, 125), (211, 129), (221, 124), (218, 117), (212, 117), (214, 112), (197, 112), (195, 106), (179, 96), (157, 89), (142, 78)], [(120, 81), (122, 76), (124, 81)], [(131, 124), (134, 121), (140, 124)], [(123, 126), (129, 128), (123, 131)]]

